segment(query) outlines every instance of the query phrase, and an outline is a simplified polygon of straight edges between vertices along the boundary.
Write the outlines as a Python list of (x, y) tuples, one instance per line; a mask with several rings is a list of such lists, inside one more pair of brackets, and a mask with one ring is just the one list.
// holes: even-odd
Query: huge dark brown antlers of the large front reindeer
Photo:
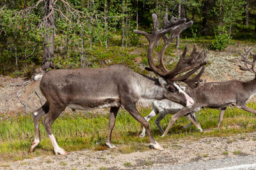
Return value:
[[(200, 73), (198, 73), (198, 75), (195, 78), (188, 79), (188, 77), (194, 74), (198, 69), (200, 69), (200, 67), (206, 64), (205, 60), (207, 58), (207, 51), (198, 52), (196, 50), (196, 45), (194, 45), (194, 49), (190, 57), (186, 58), (186, 53), (188, 50), (188, 46), (186, 45), (184, 53), (180, 56), (180, 60), (174, 69), (169, 71), (163, 64), (163, 56), (167, 46), (170, 45), (171, 41), (173, 41), (173, 39), (175, 39), (182, 31), (184, 31), (184, 29), (190, 27), (193, 24), (193, 22), (186, 22), (185, 18), (179, 19), (175, 17), (172, 17), (171, 20), (169, 21), (168, 15), (167, 13), (165, 13), (163, 19), (163, 27), (161, 27), (161, 29), (157, 29), (157, 15), (154, 13), (152, 15), (152, 18), (152, 34), (148, 34), (145, 31), (134, 30), (136, 34), (144, 35), (149, 41), (147, 57), (150, 69), (152, 69), (154, 73), (159, 74), (159, 76), (164, 77), (168, 83), (171, 83), (173, 81), (184, 81), (191, 88), (197, 87), (198, 82), (200, 81), (200, 76), (204, 72), (204, 68), (200, 71)], [(169, 32), (171, 33), (171, 35), (168, 38), (166, 34)], [(155, 66), (153, 62), (154, 46), (161, 37), (164, 38), (164, 45), (159, 55), (159, 66)], [(191, 70), (189, 73), (186, 73), (183, 76), (175, 78), (177, 74), (184, 73), (189, 70)]]

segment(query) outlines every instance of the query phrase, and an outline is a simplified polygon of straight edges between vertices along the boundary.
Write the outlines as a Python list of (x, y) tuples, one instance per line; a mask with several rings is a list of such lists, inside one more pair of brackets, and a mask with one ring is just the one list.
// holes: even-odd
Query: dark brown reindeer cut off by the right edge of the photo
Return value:
[[(256, 74), (255, 62), (256, 54), (251, 53), (252, 48), (246, 50), (244, 48), (244, 54), (241, 53), (244, 66), (239, 66), (243, 71), (250, 71)], [(249, 60), (249, 55), (252, 55), (252, 61)], [(209, 82), (200, 83), (196, 89), (186, 89), (185, 92), (193, 98), (195, 103), (191, 108), (182, 108), (180, 111), (175, 113), (170, 120), (168, 127), (164, 131), (163, 136), (165, 136), (172, 124), (180, 117), (187, 115), (188, 113), (193, 113), (196, 110), (202, 108), (220, 108), (220, 119), (218, 123), (218, 129), (223, 120), (223, 115), (227, 106), (236, 106), (239, 109), (249, 111), (256, 115), (256, 110), (246, 106), (246, 101), (248, 101), (256, 93), (256, 76), (250, 81), (239, 81), (239, 80), (229, 80), (222, 82)], [(193, 122), (191, 120), (191, 122)], [(193, 124), (197, 124), (193, 122)], [(197, 124), (198, 125), (198, 124)], [(200, 126), (200, 125), (199, 125)]]

